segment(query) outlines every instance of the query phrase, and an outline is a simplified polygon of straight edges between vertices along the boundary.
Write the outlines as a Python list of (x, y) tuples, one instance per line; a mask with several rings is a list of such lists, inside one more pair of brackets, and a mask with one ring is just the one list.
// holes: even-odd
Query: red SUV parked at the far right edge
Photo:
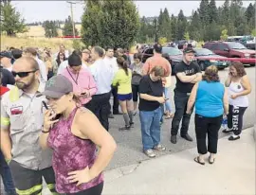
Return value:
[[(213, 53), (228, 58), (253, 58), (255, 59), (255, 50), (247, 49), (246, 46), (236, 42), (208, 42), (204, 48), (210, 49)], [(252, 63), (250, 65), (255, 65)]]

